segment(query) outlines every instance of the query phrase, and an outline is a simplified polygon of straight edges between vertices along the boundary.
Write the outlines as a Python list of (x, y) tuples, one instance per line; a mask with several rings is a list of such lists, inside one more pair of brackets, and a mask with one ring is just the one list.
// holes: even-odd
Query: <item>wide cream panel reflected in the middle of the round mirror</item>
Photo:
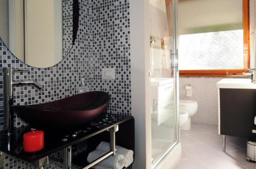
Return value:
[[(24, 2), (25, 62), (35, 67), (57, 64), (62, 59), (61, 0)], [(47, 12), (44, 12), (46, 9)], [(47, 50), (38, 51), (37, 46), (43, 46)], [(17, 54), (22, 56), (22, 53)]]

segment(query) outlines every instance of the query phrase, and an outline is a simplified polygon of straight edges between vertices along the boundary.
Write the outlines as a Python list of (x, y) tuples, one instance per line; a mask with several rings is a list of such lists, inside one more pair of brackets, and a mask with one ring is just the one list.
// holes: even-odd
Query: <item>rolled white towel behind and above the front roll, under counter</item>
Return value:
[[(109, 152), (110, 144), (108, 142), (100, 142), (100, 144), (96, 147), (96, 150), (102, 150)], [(125, 158), (124, 166), (127, 167), (133, 163), (133, 151), (125, 149), (121, 146), (116, 146), (116, 153), (122, 154)]]

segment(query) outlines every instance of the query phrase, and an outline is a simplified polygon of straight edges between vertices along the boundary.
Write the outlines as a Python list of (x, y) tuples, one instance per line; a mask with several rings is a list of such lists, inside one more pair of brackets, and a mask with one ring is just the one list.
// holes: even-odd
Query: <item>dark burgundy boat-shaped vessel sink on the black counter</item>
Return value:
[(106, 92), (87, 92), (36, 105), (13, 105), (17, 116), (29, 124), (47, 127), (73, 127), (97, 118), (106, 108)]

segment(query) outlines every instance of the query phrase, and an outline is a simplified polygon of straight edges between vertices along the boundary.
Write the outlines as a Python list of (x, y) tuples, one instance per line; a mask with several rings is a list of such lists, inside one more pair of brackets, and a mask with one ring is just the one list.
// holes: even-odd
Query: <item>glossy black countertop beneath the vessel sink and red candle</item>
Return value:
[[(94, 121), (75, 128), (40, 129), (37, 127), (37, 130), (44, 130), (45, 147), (36, 153), (26, 153), (23, 151), (23, 134), (34, 127), (15, 128), (11, 136), (4, 135), (3, 132), (0, 133), (0, 151), (33, 163), (40, 158), (49, 156), (130, 119), (133, 119), (133, 117), (103, 114)], [(74, 137), (74, 134), (76, 134), (76, 137)], [(63, 141), (65, 138), (67, 139), (66, 142)]]

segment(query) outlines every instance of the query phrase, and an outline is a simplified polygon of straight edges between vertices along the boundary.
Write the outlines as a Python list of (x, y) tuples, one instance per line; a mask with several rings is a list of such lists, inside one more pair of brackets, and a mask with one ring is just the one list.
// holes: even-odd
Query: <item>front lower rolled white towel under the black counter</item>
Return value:
[[(106, 153), (108, 152), (102, 150), (94, 150), (91, 153), (89, 153), (87, 161), (92, 162)], [(109, 156), (108, 158), (99, 162), (98, 165), (104, 166), (106, 168), (122, 169), (124, 167), (124, 162), (124, 156), (122, 154), (116, 153), (115, 156)]]

